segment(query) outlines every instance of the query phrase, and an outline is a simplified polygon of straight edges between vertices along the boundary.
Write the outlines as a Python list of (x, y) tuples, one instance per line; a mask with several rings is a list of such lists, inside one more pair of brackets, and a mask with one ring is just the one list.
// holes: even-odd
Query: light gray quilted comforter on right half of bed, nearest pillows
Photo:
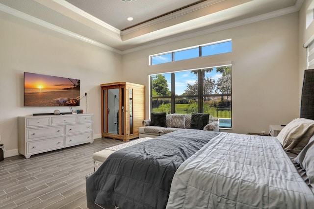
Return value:
[(274, 137), (221, 133), (177, 170), (166, 209), (310, 209), (314, 195)]

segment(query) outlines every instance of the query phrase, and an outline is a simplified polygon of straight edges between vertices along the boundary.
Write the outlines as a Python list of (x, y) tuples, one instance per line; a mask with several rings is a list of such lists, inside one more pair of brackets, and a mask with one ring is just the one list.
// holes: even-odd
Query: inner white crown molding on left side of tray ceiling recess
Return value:
[(108, 24), (108, 23), (105, 23), (104, 21), (92, 16), (91, 14), (81, 10), (80, 8), (74, 6), (73, 4), (69, 3), (68, 1), (66, 0), (52, 0), (58, 4), (60, 4), (61, 6), (64, 6), (65, 8), (77, 13), (78, 15), (94, 22), (94, 23), (97, 23), (99, 24), (100, 26), (102, 27), (105, 27), (106, 29), (112, 31), (112, 32), (115, 32), (117, 33), (118, 35), (120, 35), (121, 33), (121, 30), (119, 30), (118, 28), (115, 28), (113, 27), (112, 25)]

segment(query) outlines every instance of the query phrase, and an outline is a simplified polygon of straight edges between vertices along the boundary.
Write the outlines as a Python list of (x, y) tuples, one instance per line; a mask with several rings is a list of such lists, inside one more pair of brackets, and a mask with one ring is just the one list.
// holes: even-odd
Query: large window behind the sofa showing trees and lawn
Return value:
[(231, 65), (151, 75), (151, 111), (209, 113), (231, 128)]

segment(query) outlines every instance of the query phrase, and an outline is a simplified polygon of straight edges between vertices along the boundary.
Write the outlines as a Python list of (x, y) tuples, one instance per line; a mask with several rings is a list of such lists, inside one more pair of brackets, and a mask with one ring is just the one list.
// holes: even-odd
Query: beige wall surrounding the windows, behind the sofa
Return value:
[[(233, 52), (148, 66), (148, 56), (232, 38)], [(232, 62), (231, 132), (268, 131), (298, 117), (298, 13), (251, 23), (123, 55), (123, 76), (144, 84), (149, 117), (149, 75)]]

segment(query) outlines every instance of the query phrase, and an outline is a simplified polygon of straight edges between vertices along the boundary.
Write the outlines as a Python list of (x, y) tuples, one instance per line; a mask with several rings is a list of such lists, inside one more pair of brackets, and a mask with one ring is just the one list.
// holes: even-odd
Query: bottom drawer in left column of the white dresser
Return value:
[(63, 147), (65, 147), (64, 137), (31, 141), (27, 142), (27, 154), (41, 153)]

